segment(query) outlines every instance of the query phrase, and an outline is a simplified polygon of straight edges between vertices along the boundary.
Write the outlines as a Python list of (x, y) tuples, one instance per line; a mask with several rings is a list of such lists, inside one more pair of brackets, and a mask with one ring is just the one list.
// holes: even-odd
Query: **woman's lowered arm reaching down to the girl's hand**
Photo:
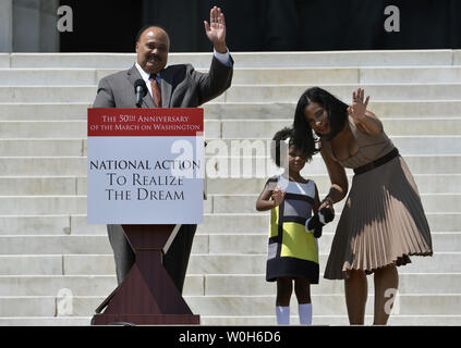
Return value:
[(324, 200), (320, 202), (320, 210), (324, 207), (332, 209), (332, 204), (342, 200), (348, 194), (349, 184), (348, 176), (345, 175), (345, 170), (338, 162), (335, 162), (325, 149), (320, 150), (320, 154), (324, 159), (325, 165), (328, 170), (328, 175), (330, 177), (331, 187)]

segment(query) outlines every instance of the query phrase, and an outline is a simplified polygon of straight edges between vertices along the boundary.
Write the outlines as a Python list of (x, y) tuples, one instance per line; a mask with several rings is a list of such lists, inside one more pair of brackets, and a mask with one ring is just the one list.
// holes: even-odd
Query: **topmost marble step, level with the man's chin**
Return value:
[[(231, 52), (235, 67), (461, 65), (460, 50), (373, 50), (327, 52)], [(169, 53), (168, 63), (209, 67), (211, 52)], [(1, 67), (129, 69), (135, 53), (11, 53)]]

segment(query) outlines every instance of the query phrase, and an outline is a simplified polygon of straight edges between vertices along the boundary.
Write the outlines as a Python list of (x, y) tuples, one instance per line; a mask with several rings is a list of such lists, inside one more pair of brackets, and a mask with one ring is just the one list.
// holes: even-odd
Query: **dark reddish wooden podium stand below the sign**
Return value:
[[(199, 324), (161, 264), (181, 225), (122, 225), (136, 259), (126, 278), (96, 309), (92, 325)], [(102, 312), (102, 310), (106, 310)]]

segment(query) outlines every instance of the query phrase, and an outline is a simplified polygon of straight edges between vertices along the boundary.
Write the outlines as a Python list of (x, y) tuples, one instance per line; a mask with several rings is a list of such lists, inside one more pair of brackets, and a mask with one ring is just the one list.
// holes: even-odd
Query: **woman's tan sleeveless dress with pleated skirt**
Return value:
[[(381, 132), (374, 137), (359, 130), (348, 117), (357, 144), (356, 154), (339, 161), (331, 144), (322, 140), (328, 156), (343, 167), (368, 164), (393, 149)], [(350, 270), (366, 274), (396, 263), (410, 263), (409, 256), (432, 256), (429, 226), (420, 194), (404, 160), (398, 156), (368, 172), (355, 174), (325, 269), (327, 279), (349, 277)]]

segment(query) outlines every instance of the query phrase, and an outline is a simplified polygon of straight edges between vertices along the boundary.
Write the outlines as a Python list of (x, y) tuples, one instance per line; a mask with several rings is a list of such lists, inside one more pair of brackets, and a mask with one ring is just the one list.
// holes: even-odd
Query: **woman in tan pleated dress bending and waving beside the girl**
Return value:
[(344, 279), (349, 322), (363, 325), (366, 275), (373, 273), (374, 324), (385, 325), (387, 302), (399, 285), (397, 266), (411, 262), (410, 256), (432, 256), (433, 247), (413, 176), (381, 122), (366, 110), (368, 100), (361, 88), (353, 92), (352, 105), (322, 88), (310, 88), (298, 102), (294, 128), (308, 139), (320, 139), (331, 187), (319, 209), (332, 209), (345, 197), (344, 167), (354, 170), (324, 277)]

